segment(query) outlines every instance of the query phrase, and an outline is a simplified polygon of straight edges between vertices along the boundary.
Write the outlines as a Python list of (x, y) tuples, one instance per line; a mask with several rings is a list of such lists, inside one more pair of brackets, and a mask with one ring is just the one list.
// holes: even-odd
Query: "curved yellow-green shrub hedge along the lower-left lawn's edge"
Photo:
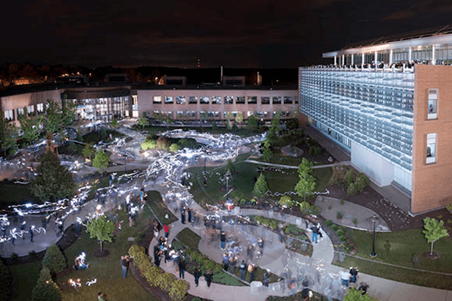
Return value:
[(158, 286), (163, 291), (168, 292), (173, 301), (186, 299), (188, 283), (184, 280), (176, 279), (171, 273), (163, 272), (157, 266), (153, 266), (143, 247), (132, 245), (129, 249), (129, 255), (134, 259), (134, 265), (138, 267), (150, 285)]

